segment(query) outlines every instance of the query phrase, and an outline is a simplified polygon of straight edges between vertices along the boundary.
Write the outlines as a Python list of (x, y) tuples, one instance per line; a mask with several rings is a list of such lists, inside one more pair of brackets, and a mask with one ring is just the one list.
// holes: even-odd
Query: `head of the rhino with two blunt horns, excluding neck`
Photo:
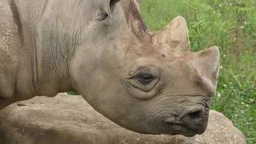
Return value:
[(135, 1), (97, 2), (101, 10), (91, 17), (97, 21), (84, 30), (70, 62), (74, 89), (129, 130), (202, 134), (217, 84), (218, 48), (191, 52), (182, 17), (152, 34)]

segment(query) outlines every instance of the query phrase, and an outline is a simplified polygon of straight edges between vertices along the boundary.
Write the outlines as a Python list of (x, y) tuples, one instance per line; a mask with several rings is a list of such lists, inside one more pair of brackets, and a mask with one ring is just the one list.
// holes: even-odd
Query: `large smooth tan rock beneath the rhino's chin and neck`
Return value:
[(193, 138), (137, 134), (98, 114), (80, 96), (58, 94), (14, 103), (0, 113), (1, 144), (244, 144), (223, 114), (210, 111), (206, 132)]

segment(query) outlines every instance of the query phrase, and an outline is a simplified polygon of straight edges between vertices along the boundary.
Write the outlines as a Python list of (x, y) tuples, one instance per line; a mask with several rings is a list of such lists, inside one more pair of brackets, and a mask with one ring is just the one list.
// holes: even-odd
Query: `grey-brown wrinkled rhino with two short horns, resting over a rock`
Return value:
[(127, 129), (202, 134), (217, 47), (190, 52), (186, 21), (148, 32), (134, 0), (1, 0), (0, 107), (75, 90)]

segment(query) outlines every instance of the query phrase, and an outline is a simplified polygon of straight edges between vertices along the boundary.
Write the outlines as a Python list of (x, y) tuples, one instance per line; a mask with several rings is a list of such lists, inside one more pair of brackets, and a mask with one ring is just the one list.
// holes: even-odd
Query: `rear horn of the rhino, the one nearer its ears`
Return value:
[(164, 30), (155, 34), (154, 42), (168, 46), (171, 50), (190, 50), (186, 19), (181, 16), (174, 18)]

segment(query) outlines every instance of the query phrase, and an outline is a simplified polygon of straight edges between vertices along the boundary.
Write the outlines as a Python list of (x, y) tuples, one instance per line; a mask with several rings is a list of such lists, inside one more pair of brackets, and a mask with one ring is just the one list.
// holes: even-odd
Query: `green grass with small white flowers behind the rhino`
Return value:
[(222, 68), (212, 109), (230, 118), (256, 143), (256, 1), (142, 0), (142, 16), (160, 30), (178, 15), (186, 18), (192, 50), (218, 46)]

